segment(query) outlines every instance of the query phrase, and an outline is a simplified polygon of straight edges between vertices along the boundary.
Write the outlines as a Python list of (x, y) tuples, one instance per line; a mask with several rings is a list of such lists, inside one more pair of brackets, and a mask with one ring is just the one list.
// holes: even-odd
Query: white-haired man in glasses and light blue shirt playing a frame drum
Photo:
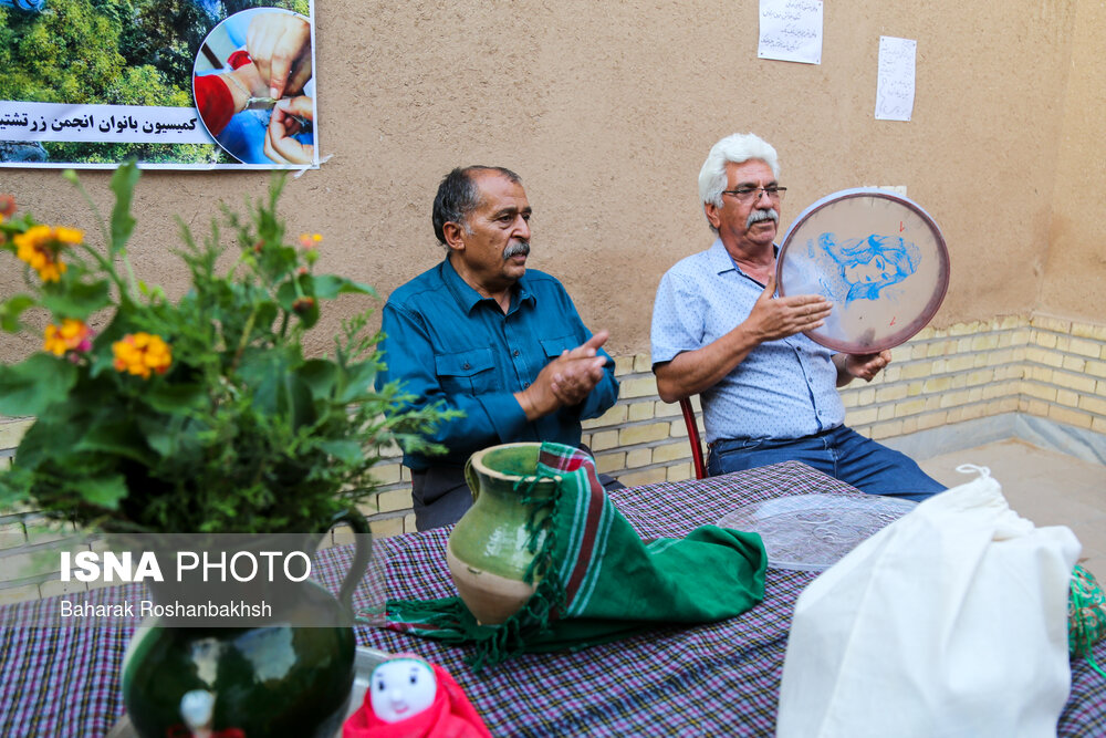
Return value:
[(844, 425), (837, 387), (870, 381), (890, 352), (835, 354), (803, 334), (832, 303), (776, 295), (779, 175), (775, 149), (753, 134), (710, 149), (699, 194), (714, 242), (668, 270), (653, 309), (661, 399), (701, 395), (711, 475), (797, 460), (873, 495), (943, 490), (909, 457)]

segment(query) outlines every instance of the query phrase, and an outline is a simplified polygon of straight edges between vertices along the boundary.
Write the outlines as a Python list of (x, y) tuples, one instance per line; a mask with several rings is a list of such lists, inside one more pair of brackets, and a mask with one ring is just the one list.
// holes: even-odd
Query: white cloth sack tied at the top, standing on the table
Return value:
[(1079, 542), (1010, 509), (985, 467), (860, 543), (800, 595), (776, 735), (1055, 736), (1071, 689)]

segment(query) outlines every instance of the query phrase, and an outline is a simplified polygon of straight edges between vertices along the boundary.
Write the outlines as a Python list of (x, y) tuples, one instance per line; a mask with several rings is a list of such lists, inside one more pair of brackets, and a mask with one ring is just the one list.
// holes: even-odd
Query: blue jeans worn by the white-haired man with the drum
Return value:
[(711, 477), (779, 461), (802, 461), (869, 495), (924, 500), (946, 488), (906, 454), (841, 425), (795, 439), (718, 440), (710, 449)]

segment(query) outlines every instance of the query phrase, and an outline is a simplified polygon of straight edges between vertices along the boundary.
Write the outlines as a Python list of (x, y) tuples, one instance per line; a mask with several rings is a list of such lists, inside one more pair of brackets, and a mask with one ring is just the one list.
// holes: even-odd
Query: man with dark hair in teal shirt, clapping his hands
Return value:
[(602, 349), (607, 332), (593, 335), (561, 282), (526, 270), (530, 215), (513, 171), (453, 169), (434, 201), (446, 259), (384, 306), (387, 370), (378, 382), (400, 380), (413, 406), (465, 413), (430, 438), (445, 456), (404, 455), (419, 530), (456, 522), (469, 508), (463, 466), (472, 453), (515, 441), (578, 446), (580, 422), (618, 398), (614, 361)]

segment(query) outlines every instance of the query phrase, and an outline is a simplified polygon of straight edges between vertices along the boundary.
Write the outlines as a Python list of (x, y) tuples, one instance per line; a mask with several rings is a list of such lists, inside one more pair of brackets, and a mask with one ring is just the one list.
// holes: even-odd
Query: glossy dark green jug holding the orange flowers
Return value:
[[(139, 736), (334, 736), (355, 676), (352, 597), (371, 545), (361, 514), (338, 513), (327, 530), (338, 523), (358, 536), (337, 599), (304, 580), (265, 593), (274, 612), (263, 626), (170, 627), (157, 621), (139, 626), (123, 663), (124, 701)], [(306, 538), (317, 543), (321, 537)], [(155, 601), (171, 596), (171, 590), (154, 591)], [(305, 613), (321, 625), (286, 622), (303, 622)]]

